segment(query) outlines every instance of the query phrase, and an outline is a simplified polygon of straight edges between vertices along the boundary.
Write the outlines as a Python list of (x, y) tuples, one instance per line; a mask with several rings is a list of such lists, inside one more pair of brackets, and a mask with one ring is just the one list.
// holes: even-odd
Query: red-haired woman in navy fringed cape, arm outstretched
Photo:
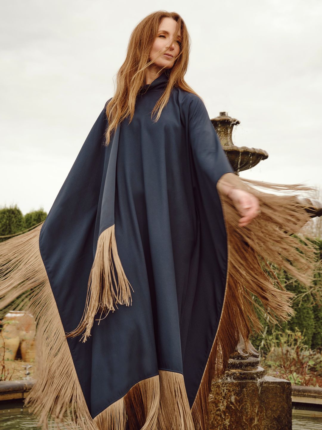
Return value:
[(289, 235), (304, 207), (234, 174), (188, 52), (178, 14), (137, 25), (46, 221), (0, 244), (0, 306), (22, 294), (37, 317), (40, 424), (206, 430), (212, 379), (260, 329), (253, 295), (272, 321), (292, 313), (267, 261), (310, 282), (313, 248)]

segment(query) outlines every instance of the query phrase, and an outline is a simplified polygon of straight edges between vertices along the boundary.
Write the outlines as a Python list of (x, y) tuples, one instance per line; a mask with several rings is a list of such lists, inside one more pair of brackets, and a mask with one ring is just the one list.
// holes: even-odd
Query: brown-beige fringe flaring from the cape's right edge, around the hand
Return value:
[[(256, 314), (257, 297), (263, 304), (268, 320), (287, 320), (292, 316), (291, 299), (270, 264), (286, 270), (306, 286), (313, 282), (316, 267), (316, 246), (305, 237), (301, 241), (291, 237), (310, 220), (299, 195), (278, 196), (253, 188), (294, 192), (313, 190), (301, 184), (284, 185), (251, 181), (230, 175), (227, 180), (256, 197), (261, 214), (244, 227), (238, 227), (239, 213), (231, 200), (220, 194), (228, 244), (228, 273), (222, 315), (216, 338), (207, 361), (197, 396), (191, 408), (195, 429), (209, 426), (208, 396), (213, 380), (218, 380), (227, 369), (240, 335), (245, 340), (262, 326)], [(269, 264), (270, 263), (270, 264)], [(265, 270), (264, 270), (265, 269)]]

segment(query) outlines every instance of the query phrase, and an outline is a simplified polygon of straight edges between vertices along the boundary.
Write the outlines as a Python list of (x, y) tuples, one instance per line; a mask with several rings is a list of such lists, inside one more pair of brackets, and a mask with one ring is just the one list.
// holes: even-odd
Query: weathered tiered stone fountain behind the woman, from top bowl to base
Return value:
[[(211, 122), (237, 175), (268, 158), (263, 149), (234, 145), (233, 127), (240, 121), (228, 116), (227, 112), (220, 112)], [(312, 218), (322, 215), (319, 202), (307, 198), (304, 200)], [(308, 201), (310, 205), (307, 205)], [(225, 375), (212, 384), (209, 430), (292, 429), (291, 383), (265, 376), (265, 370), (259, 366), (259, 362), (259, 352), (249, 340), (244, 342), (240, 336)]]

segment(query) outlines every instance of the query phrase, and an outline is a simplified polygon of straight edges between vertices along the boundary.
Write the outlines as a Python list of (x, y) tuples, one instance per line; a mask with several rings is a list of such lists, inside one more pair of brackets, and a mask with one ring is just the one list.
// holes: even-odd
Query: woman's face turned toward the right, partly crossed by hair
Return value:
[[(156, 66), (160, 68), (170, 69), (176, 57), (180, 52), (180, 31), (176, 34), (174, 42), (171, 43), (176, 31), (176, 21), (173, 18), (163, 18), (159, 28), (155, 41), (149, 52), (149, 59), (153, 61)], [(162, 55), (157, 58), (157, 56), (162, 52)], [(169, 55), (167, 55), (169, 54)]]

